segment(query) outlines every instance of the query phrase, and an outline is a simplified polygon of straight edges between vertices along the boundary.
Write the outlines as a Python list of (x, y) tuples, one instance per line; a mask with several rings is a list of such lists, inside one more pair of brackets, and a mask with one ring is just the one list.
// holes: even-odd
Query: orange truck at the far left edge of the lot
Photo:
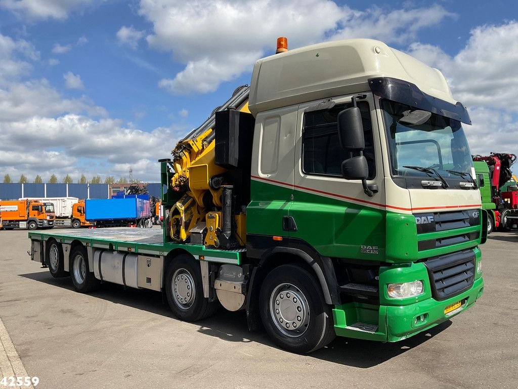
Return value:
[(38, 200), (0, 201), (2, 228), (37, 228), (54, 227), (54, 205)]

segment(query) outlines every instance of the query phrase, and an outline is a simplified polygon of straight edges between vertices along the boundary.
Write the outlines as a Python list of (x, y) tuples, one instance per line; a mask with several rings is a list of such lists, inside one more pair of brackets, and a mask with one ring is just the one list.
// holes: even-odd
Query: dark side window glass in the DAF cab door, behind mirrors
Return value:
[[(308, 112), (304, 115), (302, 135), (303, 172), (312, 175), (327, 175), (341, 177), (342, 161), (352, 157), (352, 153), (343, 150), (338, 141), (338, 113), (352, 104), (340, 104), (333, 108)], [(365, 136), (364, 156), (369, 165), (368, 179), (376, 175), (374, 148), (372, 142), (372, 123), (370, 120), (369, 104), (358, 102), (362, 114)]]

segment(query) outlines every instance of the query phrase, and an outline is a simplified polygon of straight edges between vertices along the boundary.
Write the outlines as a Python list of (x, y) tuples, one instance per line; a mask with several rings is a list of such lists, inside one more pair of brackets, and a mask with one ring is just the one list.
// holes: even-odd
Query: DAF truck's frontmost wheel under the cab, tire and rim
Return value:
[(268, 273), (259, 304), (266, 332), (282, 349), (307, 354), (336, 336), (320, 284), (300, 266), (282, 265)]

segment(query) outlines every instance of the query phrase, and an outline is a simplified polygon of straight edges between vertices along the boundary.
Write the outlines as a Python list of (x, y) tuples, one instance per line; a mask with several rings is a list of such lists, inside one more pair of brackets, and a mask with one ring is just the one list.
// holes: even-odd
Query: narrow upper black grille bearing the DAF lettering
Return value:
[(437, 232), (480, 225), (480, 210), (414, 214), (417, 232)]

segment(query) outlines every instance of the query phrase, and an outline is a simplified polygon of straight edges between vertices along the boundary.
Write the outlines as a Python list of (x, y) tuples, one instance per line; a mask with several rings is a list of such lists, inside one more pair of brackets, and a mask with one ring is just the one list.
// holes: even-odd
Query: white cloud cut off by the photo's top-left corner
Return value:
[(69, 12), (95, 0), (0, 0), (0, 7), (29, 19), (66, 19)]

